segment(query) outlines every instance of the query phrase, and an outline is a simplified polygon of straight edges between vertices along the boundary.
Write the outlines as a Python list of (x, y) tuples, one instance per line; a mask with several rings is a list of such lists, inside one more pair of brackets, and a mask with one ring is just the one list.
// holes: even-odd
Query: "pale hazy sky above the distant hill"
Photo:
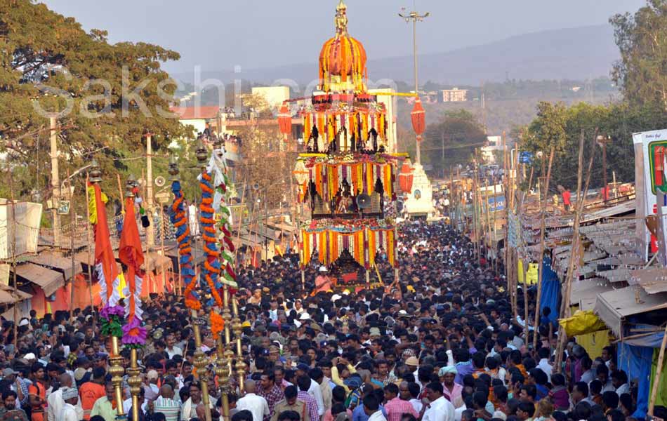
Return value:
[[(272, 67), (317, 60), (334, 34), (338, 0), (43, 0), (110, 41), (147, 41), (176, 50), (171, 72)], [(411, 25), (400, 20), (414, 0), (348, 0), (350, 34), (370, 58), (411, 54)], [(508, 36), (607, 23), (645, 0), (416, 0), (430, 12), (418, 24), (420, 53), (448, 51)], [(492, 65), (489, 63), (489, 65)]]

